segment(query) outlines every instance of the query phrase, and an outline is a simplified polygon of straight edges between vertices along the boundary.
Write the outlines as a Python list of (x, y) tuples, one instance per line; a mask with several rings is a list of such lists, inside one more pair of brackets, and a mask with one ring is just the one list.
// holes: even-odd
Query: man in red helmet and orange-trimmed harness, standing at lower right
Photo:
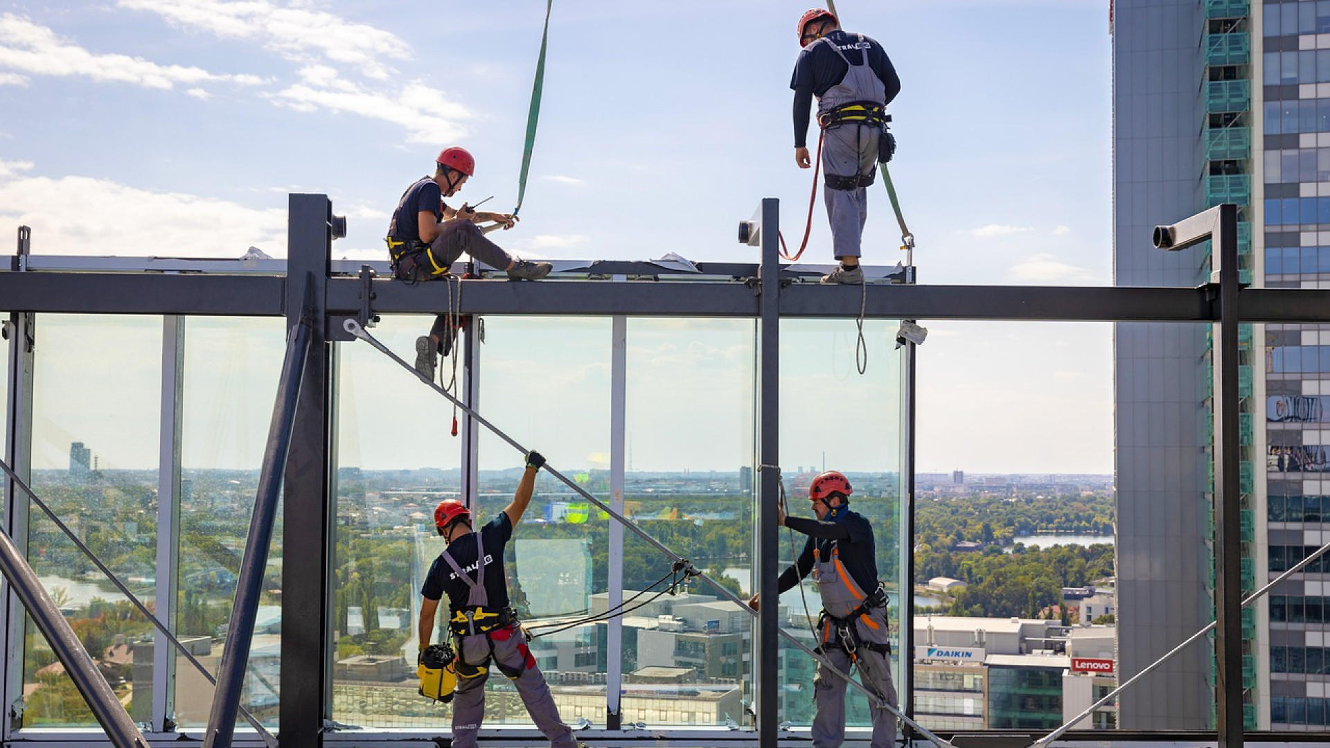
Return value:
[[(850, 510), (854, 488), (845, 474), (829, 470), (813, 479), (809, 499), (817, 519), (787, 516), (777, 510), (777, 524), (809, 536), (798, 560), (781, 574), (777, 588), (793, 588), (813, 574), (822, 598), (818, 616), (817, 652), (842, 673), (859, 668), (859, 680), (883, 701), (896, 705), (896, 687), (891, 681), (891, 643), (887, 638), (887, 592), (878, 582), (872, 526), (862, 514)], [(757, 595), (749, 606), (757, 610)], [(845, 741), (846, 680), (818, 663), (813, 680), (814, 748), (837, 748)], [(874, 705), (872, 748), (891, 748), (896, 740), (896, 717)]]

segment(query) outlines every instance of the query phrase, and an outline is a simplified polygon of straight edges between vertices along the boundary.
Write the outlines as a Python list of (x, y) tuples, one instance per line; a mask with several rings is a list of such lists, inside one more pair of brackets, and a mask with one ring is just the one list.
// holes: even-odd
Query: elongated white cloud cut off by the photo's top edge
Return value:
[(120, 0), (118, 5), (149, 11), (225, 39), (257, 40), (289, 60), (326, 59), (356, 65), (363, 75), (378, 80), (387, 80), (392, 72), (382, 63), (384, 57), (411, 57), (410, 45), (398, 36), (311, 7), (267, 0)]

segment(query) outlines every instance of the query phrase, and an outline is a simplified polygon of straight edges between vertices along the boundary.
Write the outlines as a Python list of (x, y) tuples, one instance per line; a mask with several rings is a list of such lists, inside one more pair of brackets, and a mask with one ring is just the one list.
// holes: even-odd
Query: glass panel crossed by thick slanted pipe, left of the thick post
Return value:
[[(235, 600), (267, 429), (286, 355), (282, 318), (185, 319), (176, 634), (215, 677)], [(282, 620), (282, 514), (277, 514), (241, 705), (277, 728)], [(176, 723), (202, 727), (214, 688), (176, 655)], [(237, 719), (239, 729), (249, 723)]]

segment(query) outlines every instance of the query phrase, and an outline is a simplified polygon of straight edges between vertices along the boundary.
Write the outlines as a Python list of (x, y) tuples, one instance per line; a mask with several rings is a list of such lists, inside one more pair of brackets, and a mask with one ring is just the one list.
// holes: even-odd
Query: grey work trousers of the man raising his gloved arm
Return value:
[[(559, 708), (555, 697), (549, 693), (549, 684), (545, 676), (536, 667), (536, 660), (527, 650), (527, 635), (521, 628), (513, 627), (505, 631), (496, 631), (493, 635), (493, 660), (489, 661), (489, 642), (484, 634), (460, 638), (459, 654), (467, 663), (485, 664), (491, 671), (497, 669), (501, 663), (511, 671), (521, 671), (521, 675), (512, 679), (517, 687), (521, 703), (527, 705), (527, 713), (536, 728), (549, 739), (552, 748), (576, 748), (573, 731), (559, 717)], [(503, 638), (500, 638), (503, 636)], [(476, 677), (458, 677), (458, 689), (452, 696), (452, 748), (475, 748), (476, 733), (480, 732), (480, 723), (485, 719), (485, 680), (489, 672)]]

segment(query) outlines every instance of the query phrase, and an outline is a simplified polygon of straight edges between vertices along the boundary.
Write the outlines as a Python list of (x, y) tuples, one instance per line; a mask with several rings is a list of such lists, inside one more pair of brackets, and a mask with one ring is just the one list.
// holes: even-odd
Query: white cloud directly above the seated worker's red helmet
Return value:
[(399, 124), (412, 142), (458, 140), (467, 134), (467, 128), (455, 120), (471, 114), (432, 88), (412, 83), (396, 93), (382, 93), (342, 79), (327, 65), (303, 68), (301, 83), (269, 96), (297, 112), (322, 108)]

